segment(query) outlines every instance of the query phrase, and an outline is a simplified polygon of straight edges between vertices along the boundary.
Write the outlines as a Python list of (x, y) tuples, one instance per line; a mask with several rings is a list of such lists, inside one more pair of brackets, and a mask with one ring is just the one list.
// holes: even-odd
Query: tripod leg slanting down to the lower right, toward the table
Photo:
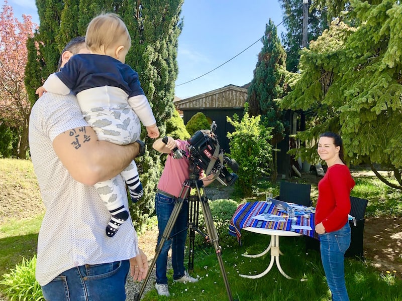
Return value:
[(223, 265), (221, 247), (219, 246), (219, 243), (218, 243), (218, 234), (215, 229), (214, 220), (212, 218), (211, 208), (208, 204), (208, 199), (207, 199), (207, 196), (205, 195), (204, 189), (202, 189), (202, 191), (203, 191), (203, 194), (201, 195), (200, 190), (197, 186), (197, 195), (198, 195), (198, 199), (200, 200), (200, 203), (201, 203), (201, 208), (203, 210), (208, 235), (210, 236), (211, 242), (213, 243), (215, 252), (217, 254), (218, 263), (221, 268), (221, 273), (222, 273), (223, 280), (225, 282), (229, 301), (233, 301), (232, 292), (230, 290), (228, 277), (227, 277), (226, 271), (225, 271), (225, 266)]

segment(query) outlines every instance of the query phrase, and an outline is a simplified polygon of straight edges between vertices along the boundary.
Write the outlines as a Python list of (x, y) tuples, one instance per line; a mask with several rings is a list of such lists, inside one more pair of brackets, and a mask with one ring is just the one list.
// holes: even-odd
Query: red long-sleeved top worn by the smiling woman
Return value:
[(346, 165), (335, 164), (328, 168), (318, 183), (316, 225), (323, 223), (326, 232), (341, 229), (348, 221), (350, 191), (355, 181)]

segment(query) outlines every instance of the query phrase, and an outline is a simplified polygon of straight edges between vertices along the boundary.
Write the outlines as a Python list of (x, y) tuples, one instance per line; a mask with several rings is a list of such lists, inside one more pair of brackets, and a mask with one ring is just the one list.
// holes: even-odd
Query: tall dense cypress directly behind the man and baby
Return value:
[[(116, 13), (125, 22), (132, 39), (126, 64), (139, 74), (161, 135), (166, 120), (173, 113), (174, 82), (177, 77), (177, 39), (181, 32), (180, 12), (183, 0), (37, 0), (40, 19), (40, 58), (42, 79), (56, 70), (60, 52), (75, 36), (83, 36), (90, 20), (100, 13)], [(30, 80), (30, 79), (28, 79)], [(33, 101), (35, 101), (34, 99)], [(146, 156), (137, 159), (144, 197), (132, 206), (131, 213), (138, 229), (153, 212), (153, 200), (160, 176), (159, 154), (152, 150), (151, 139)]]

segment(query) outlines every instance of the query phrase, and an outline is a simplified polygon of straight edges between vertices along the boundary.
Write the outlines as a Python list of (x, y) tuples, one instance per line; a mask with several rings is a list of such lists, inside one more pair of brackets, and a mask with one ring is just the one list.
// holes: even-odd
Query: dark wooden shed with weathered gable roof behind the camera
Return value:
[(226, 121), (226, 117), (232, 117), (235, 113), (242, 118), (244, 103), (247, 99), (247, 88), (228, 85), (213, 91), (195, 95), (174, 102), (177, 110), (183, 112), (184, 124), (197, 112), (203, 112), (212, 123), (217, 124), (216, 134), (221, 147), (229, 153), (228, 132), (233, 132), (234, 127)]

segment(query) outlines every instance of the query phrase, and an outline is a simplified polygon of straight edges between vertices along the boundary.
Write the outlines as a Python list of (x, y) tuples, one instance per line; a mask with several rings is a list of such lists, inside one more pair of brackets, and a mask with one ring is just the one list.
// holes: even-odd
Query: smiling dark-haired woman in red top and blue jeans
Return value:
[(350, 191), (355, 182), (343, 162), (341, 137), (333, 132), (320, 135), (318, 155), (328, 170), (318, 183), (316, 232), (320, 236), (321, 260), (333, 301), (349, 300), (345, 283), (344, 255), (350, 245)]

